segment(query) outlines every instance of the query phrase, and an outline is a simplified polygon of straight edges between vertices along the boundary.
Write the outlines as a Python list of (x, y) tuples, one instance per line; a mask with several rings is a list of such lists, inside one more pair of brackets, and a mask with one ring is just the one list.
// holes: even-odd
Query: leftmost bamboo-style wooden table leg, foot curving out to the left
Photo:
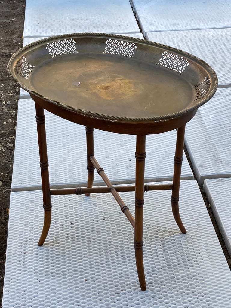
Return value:
[(40, 168), (42, 177), (43, 188), (43, 208), (44, 208), (44, 223), (43, 231), (39, 239), (39, 246), (42, 246), (46, 240), (48, 231), (51, 225), (51, 196), (50, 196), (50, 182), (49, 182), (49, 170), (47, 160), (47, 141), (46, 141), (46, 128), (45, 128), (45, 115), (44, 110), (39, 104), (35, 103), (36, 109), (36, 122), (39, 141), (39, 157)]

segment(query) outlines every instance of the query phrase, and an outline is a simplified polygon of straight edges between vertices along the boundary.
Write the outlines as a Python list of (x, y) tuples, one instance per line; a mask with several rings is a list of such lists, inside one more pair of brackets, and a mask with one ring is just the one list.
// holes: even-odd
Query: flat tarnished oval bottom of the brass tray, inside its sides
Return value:
[(30, 82), (50, 99), (115, 116), (174, 113), (194, 99), (192, 85), (176, 72), (119, 55), (77, 53), (52, 58), (34, 68)]

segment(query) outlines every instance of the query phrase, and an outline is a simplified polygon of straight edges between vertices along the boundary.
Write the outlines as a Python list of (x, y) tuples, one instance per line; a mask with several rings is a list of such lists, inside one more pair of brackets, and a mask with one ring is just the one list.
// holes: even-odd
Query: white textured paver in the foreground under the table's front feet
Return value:
[[(134, 193), (120, 195), (133, 213)], [(181, 182), (187, 234), (172, 217), (170, 196), (144, 196), (142, 292), (133, 230), (111, 194), (53, 196), (51, 229), (39, 247), (42, 193), (12, 193), (2, 308), (230, 308), (231, 274), (196, 181)]]

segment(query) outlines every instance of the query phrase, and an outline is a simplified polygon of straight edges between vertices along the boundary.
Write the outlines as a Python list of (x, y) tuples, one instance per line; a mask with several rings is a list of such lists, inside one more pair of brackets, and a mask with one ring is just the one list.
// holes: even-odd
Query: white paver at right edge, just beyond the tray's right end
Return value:
[(199, 183), (231, 177), (231, 88), (217, 89), (186, 124), (185, 143)]

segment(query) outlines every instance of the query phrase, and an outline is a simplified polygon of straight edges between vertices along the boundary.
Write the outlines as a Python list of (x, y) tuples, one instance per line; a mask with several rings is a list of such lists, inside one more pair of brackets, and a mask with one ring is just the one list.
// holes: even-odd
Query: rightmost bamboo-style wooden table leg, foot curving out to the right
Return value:
[(174, 158), (174, 172), (173, 172), (172, 196), (171, 196), (172, 213), (182, 233), (187, 232), (181, 221), (179, 213), (180, 174), (181, 174), (181, 165), (183, 160), (184, 131), (185, 131), (185, 125), (177, 129), (176, 154)]

